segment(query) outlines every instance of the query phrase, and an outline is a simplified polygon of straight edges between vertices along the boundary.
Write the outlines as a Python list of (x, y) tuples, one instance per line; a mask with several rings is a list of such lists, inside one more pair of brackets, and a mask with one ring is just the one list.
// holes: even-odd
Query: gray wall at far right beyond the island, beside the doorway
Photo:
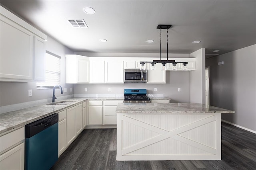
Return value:
[[(218, 62), (224, 64), (218, 65)], [(256, 45), (206, 59), (210, 105), (234, 110), (222, 119), (256, 131)]]

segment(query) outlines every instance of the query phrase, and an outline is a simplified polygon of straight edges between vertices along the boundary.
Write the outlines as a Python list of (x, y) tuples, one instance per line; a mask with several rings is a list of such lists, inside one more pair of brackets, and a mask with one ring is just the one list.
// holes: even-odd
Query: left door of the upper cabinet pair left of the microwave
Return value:
[(104, 61), (90, 61), (90, 83), (104, 83)]

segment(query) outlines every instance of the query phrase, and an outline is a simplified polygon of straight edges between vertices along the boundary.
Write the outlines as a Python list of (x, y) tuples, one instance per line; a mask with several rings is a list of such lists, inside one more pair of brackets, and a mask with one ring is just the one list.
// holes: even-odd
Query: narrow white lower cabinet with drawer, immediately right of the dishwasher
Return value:
[(58, 157), (66, 149), (66, 110), (61, 111), (59, 114), (58, 123)]

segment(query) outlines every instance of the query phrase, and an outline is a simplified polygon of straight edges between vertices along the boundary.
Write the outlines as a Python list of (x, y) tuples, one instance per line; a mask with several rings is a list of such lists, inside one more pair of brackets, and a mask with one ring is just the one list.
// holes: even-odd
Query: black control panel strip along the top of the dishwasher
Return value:
[(34, 121), (28, 125), (25, 126), (25, 138), (30, 138), (44, 129), (54, 125), (55, 123), (58, 123), (58, 113), (54, 113), (48, 117), (44, 117), (38, 121)]

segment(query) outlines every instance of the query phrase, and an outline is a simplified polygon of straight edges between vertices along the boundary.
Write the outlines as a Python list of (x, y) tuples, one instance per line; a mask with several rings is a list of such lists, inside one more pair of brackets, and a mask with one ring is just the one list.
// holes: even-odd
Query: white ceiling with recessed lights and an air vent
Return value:
[[(1, 0), (1, 5), (74, 52), (159, 53), (158, 24), (173, 25), (169, 53), (206, 48), (207, 54), (216, 49), (223, 54), (256, 44), (254, 0)], [(85, 14), (86, 6), (95, 14)], [(73, 28), (66, 19), (84, 19), (89, 28)], [(154, 43), (146, 43), (148, 39)], [(202, 42), (193, 44), (195, 40)]]

